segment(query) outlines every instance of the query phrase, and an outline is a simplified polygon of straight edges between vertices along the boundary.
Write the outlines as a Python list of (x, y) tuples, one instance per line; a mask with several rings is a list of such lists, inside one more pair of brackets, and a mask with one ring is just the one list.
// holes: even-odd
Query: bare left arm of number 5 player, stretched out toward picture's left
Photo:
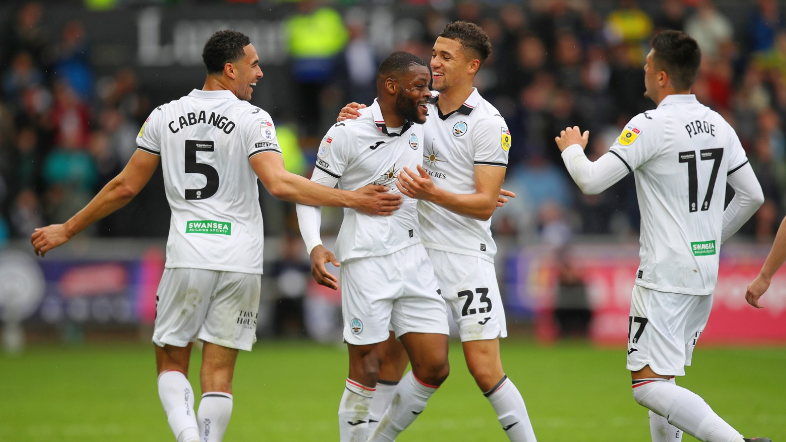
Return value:
[(158, 155), (138, 149), (123, 171), (108, 182), (93, 200), (71, 219), (63, 224), (52, 224), (35, 229), (30, 237), (35, 254), (44, 256), (46, 252), (63, 245), (90, 224), (128, 204), (150, 181), (159, 161)]

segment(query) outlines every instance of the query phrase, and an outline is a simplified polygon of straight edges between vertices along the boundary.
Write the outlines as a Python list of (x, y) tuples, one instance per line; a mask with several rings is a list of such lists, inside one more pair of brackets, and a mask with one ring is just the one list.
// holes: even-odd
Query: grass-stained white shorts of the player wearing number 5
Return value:
[(156, 292), (153, 344), (185, 347), (200, 339), (238, 350), (256, 342), (262, 276), (166, 268)]

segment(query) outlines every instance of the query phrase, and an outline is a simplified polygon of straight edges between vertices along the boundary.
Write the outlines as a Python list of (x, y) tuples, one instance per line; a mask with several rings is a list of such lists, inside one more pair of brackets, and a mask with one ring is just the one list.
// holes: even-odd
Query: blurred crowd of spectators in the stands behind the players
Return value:
[[(292, 109), (267, 110), (282, 120), (300, 116), (320, 122), (300, 123), (299, 133), (284, 146), (298, 163), (288, 168), (307, 174), (338, 109), (349, 101), (373, 100), (376, 66), (387, 53), (373, 41), (360, 2), (292, 3), (283, 28)], [(373, 2), (410, 11), (395, 22), (395, 49), (425, 60), (451, 20), (476, 22), (490, 36), (494, 51), (476, 87), (509, 124), (505, 188), (517, 194), (494, 215), (496, 234), (557, 246), (574, 234), (637, 234), (632, 175), (601, 195), (582, 195), (567, 176), (553, 138), (560, 129), (578, 125), (590, 131), (591, 159), (607, 152), (627, 120), (654, 107), (643, 96), (648, 40), (656, 31), (679, 29), (692, 35), (703, 52), (693, 92), (735, 127), (766, 195), (740, 235), (771, 238), (786, 211), (783, 5), (776, 0), (599, 3)], [(141, 123), (160, 101), (145, 95), (145, 85), (130, 68), (97, 77), (90, 41), (100, 36), (86, 35), (79, 21), (61, 29), (47, 26), (44, 7), (24, 4), (2, 26), (8, 44), (0, 52), (0, 243), (63, 222), (90, 201), (134, 153)], [(263, 211), (277, 212), (266, 216), (292, 219), (291, 210), (263, 204)], [(340, 211), (331, 213), (340, 217)], [(87, 234), (138, 236), (144, 231), (115, 219)]]

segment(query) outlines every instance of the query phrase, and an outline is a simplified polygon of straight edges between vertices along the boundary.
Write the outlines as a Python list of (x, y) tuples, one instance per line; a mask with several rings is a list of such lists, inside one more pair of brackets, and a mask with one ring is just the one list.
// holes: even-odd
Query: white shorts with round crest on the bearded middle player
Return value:
[(344, 341), (354, 345), (386, 341), (388, 326), (404, 333), (448, 334), (445, 301), (422, 244), (384, 256), (341, 263)]

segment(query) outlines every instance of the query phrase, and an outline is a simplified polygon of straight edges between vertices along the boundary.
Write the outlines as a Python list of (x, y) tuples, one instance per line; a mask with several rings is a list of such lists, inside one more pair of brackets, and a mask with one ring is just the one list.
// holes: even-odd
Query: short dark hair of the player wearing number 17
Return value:
[(652, 37), (652, 57), (666, 71), (675, 90), (689, 90), (701, 64), (699, 43), (683, 31), (662, 31)]

